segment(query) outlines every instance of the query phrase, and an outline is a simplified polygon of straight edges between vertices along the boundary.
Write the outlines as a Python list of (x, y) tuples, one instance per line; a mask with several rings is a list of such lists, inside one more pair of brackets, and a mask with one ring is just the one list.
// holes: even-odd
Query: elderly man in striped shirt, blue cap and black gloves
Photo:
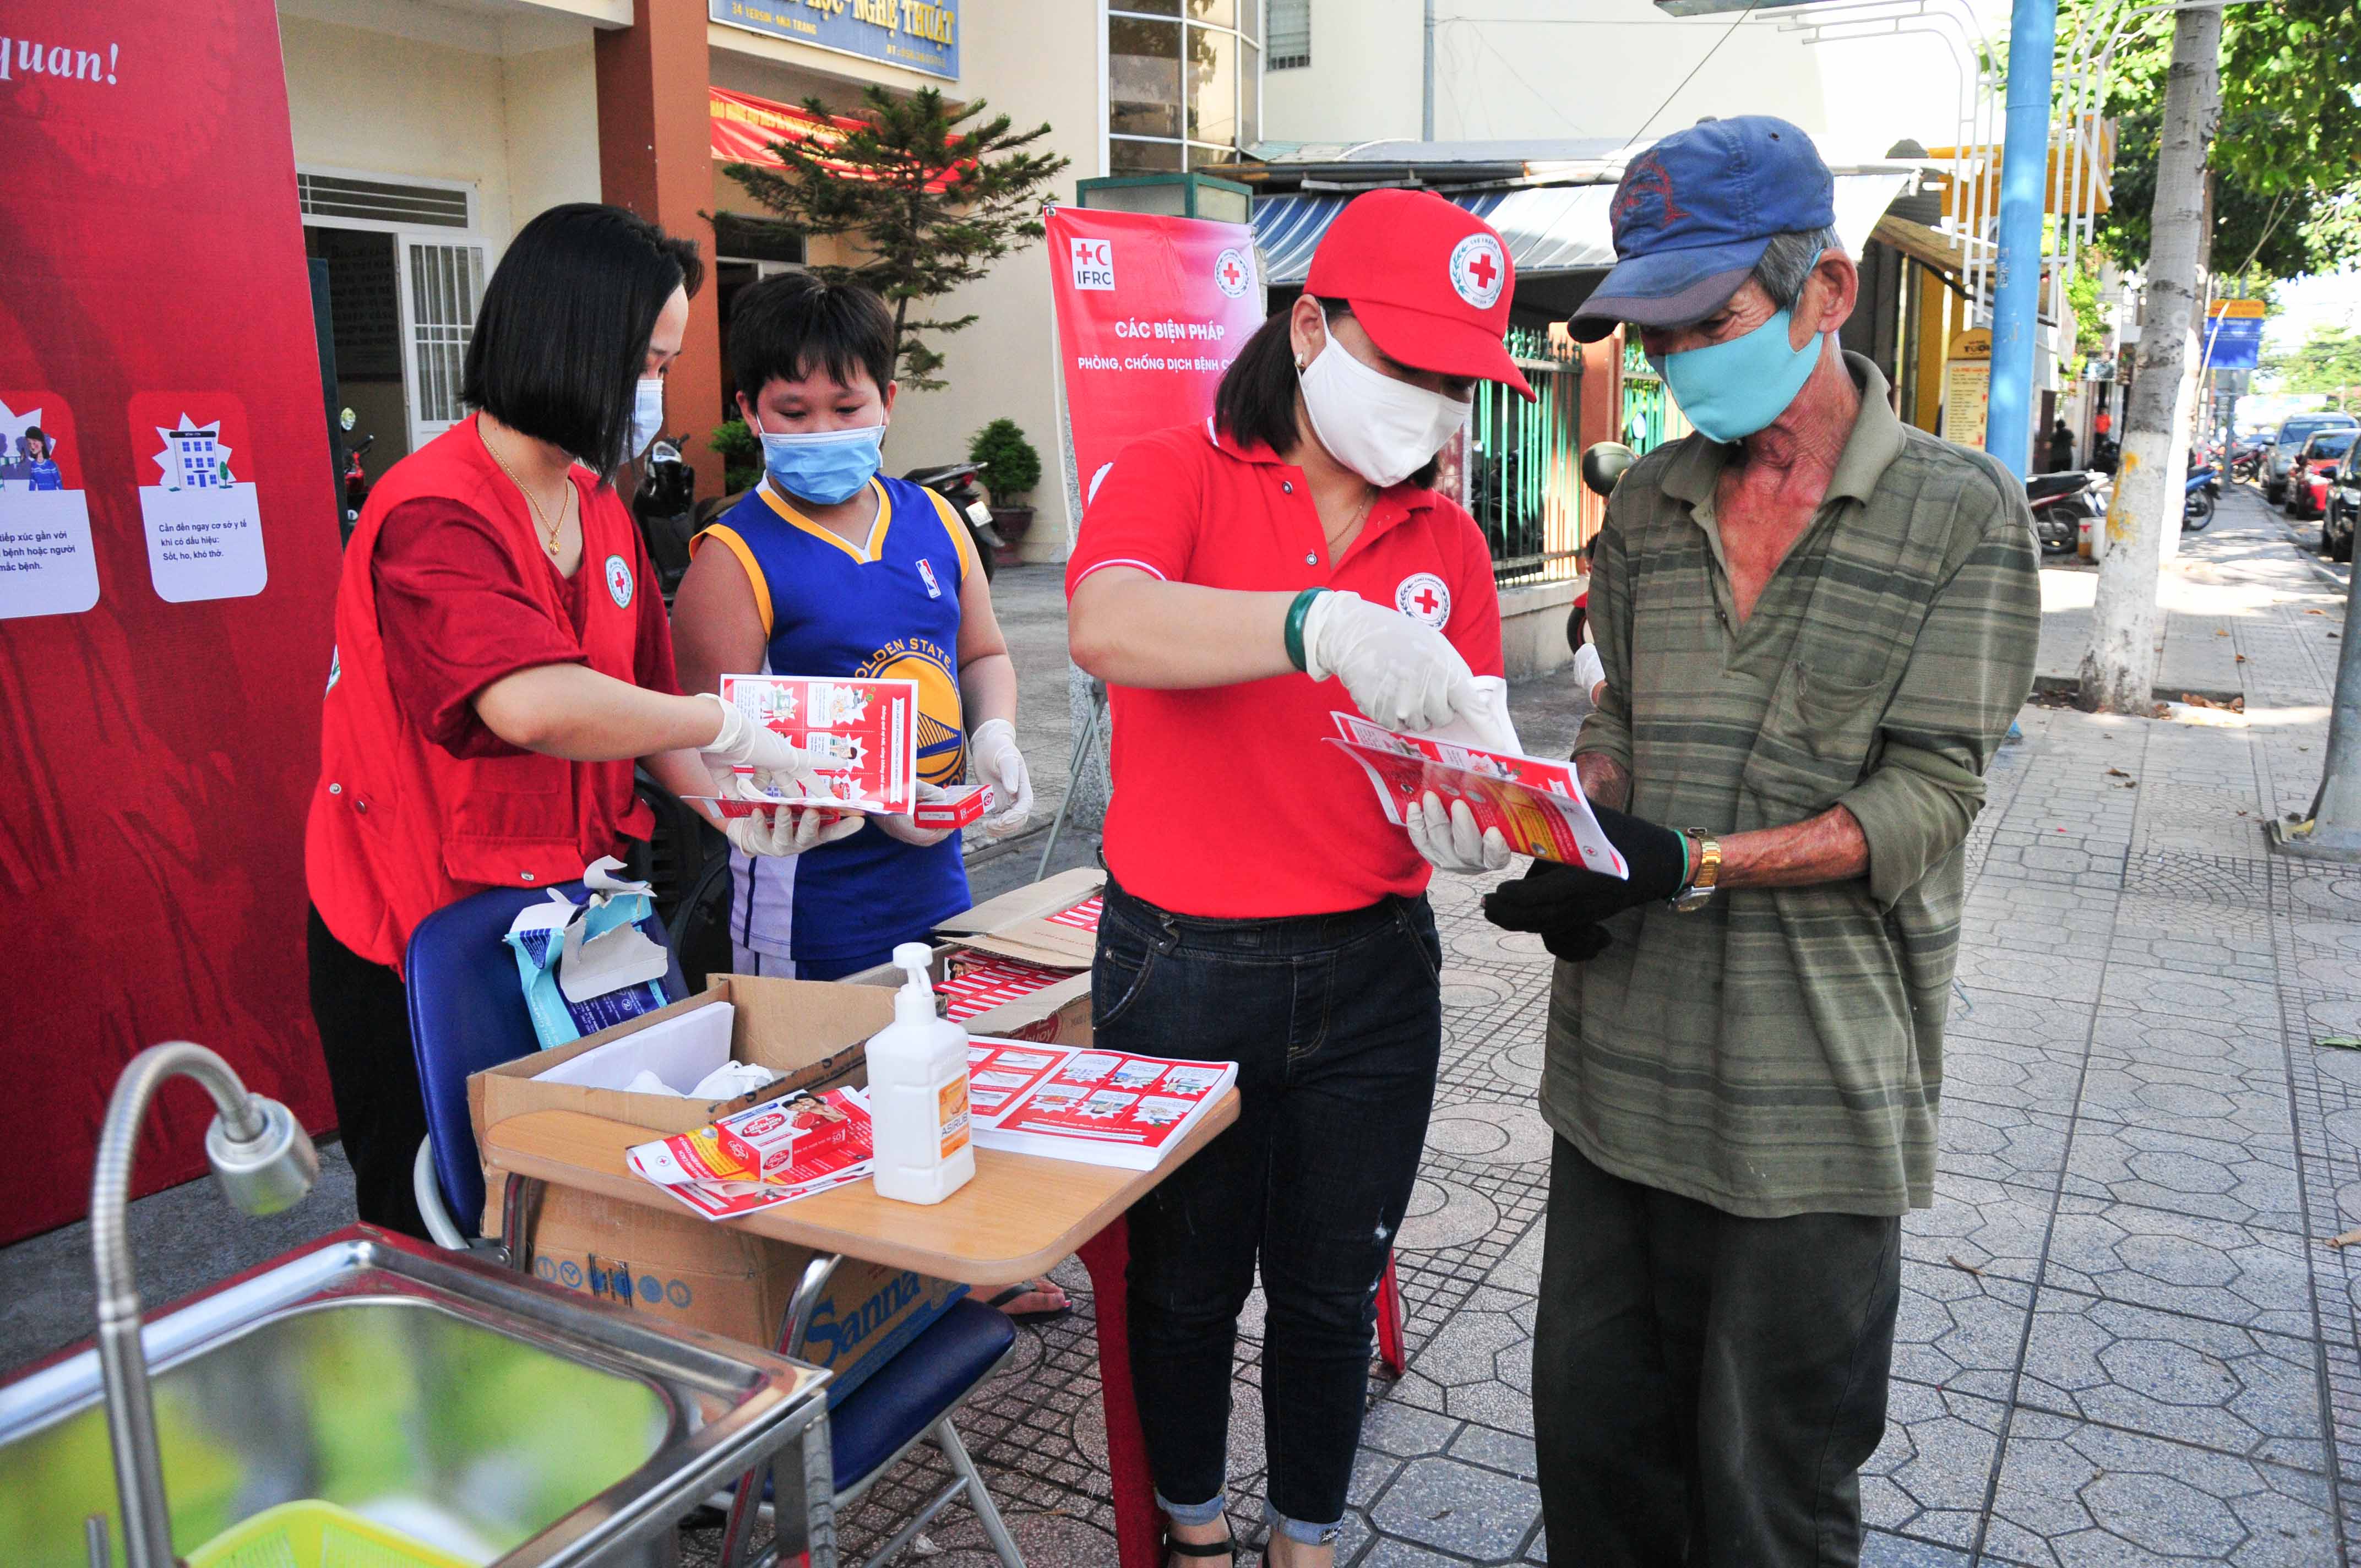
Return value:
[(2033, 678), (2023, 489), (1839, 349), (1832, 189), (1785, 120), (1665, 137), (1572, 321), (1636, 324), (1695, 425), (1617, 484), (1591, 567), (1575, 763), (1631, 876), (1485, 900), (1558, 956), (1532, 1405), (1551, 1556), (1584, 1568), (1860, 1559), (1962, 843)]

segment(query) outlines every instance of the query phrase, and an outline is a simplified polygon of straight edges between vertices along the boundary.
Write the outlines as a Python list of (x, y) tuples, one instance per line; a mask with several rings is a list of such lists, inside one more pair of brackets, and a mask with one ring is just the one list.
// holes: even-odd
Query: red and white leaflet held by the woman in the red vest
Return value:
[(722, 701), (819, 760), (824, 793), (760, 803), (907, 815), (918, 805), (918, 682), (722, 675)]

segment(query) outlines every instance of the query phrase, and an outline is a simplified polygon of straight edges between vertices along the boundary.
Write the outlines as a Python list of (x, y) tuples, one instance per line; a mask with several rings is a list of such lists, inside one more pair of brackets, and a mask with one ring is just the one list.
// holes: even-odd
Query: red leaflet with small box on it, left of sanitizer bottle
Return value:
[(864, 1181), (869, 1096), (793, 1093), (630, 1150), (630, 1169), (706, 1219), (739, 1219)]

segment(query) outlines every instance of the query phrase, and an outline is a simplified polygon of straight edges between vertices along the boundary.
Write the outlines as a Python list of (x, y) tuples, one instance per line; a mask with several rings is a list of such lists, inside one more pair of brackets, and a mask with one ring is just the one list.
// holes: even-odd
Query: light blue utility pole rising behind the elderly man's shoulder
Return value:
[[(2019, 479), (2030, 468), (2033, 442), (2033, 335), (2040, 331), (2049, 66), (2056, 47), (2056, 0), (2016, 0), (2009, 12), (2009, 130), (2000, 149), (2000, 260), (1983, 449)], [(2061, 298), (2064, 288), (2066, 279), (2059, 279)]]

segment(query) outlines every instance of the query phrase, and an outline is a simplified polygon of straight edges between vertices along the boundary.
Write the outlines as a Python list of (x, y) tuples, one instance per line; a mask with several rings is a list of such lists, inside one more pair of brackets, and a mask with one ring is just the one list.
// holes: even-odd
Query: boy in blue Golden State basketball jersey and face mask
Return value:
[[(985, 831), (1032, 812), (1015, 741), (1018, 675), (968, 529), (930, 489), (878, 472), (895, 331), (855, 283), (781, 274), (737, 295), (730, 368), (763, 439), (763, 484), (692, 541), (673, 600), (682, 690), (725, 673), (918, 685), (918, 793), (973, 770)], [(836, 980), (885, 963), (968, 907), (951, 831), (871, 817), (800, 855), (732, 852), (730, 935), (746, 975)]]

